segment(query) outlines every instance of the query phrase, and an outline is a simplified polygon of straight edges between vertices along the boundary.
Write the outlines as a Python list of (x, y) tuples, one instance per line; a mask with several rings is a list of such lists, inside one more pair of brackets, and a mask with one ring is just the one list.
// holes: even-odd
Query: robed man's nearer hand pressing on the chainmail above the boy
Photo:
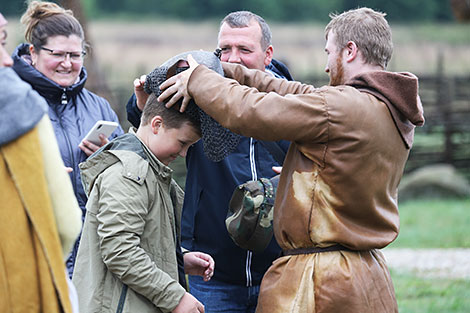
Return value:
[(199, 65), (199, 63), (194, 60), (192, 55), (188, 55), (188, 65), (189, 68), (184, 72), (179, 73), (173, 77), (170, 77), (160, 85), (160, 90), (162, 94), (158, 97), (159, 102), (166, 102), (166, 107), (171, 108), (176, 102), (181, 98), (182, 103), (180, 107), (180, 112), (184, 112), (188, 106), (191, 96), (188, 93), (188, 82), (189, 77), (193, 73), (194, 69)]

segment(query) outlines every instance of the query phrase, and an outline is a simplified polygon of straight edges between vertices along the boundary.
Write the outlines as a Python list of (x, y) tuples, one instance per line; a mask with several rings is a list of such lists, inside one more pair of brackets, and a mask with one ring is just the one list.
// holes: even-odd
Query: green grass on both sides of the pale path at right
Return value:
[[(408, 201), (400, 204), (400, 222), (390, 248), (470, 248), (470, 199)], [(401, 313), (470, 312), (470, 280), (391, 274)]]

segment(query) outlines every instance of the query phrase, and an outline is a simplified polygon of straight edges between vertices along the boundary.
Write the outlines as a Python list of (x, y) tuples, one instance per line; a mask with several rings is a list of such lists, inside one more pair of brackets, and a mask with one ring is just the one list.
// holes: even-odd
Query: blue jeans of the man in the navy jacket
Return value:
[(200, 276), (189, 276), (189, 291), (204, 304), (206, 313), (254, 313), (259, 285), (246, 287), (215, 280), (205, 282)]

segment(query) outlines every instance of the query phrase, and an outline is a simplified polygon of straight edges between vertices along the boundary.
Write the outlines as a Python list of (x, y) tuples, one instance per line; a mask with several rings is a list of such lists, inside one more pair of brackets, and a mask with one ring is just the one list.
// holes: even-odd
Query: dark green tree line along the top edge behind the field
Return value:
[[(77, 0), (78, 1), (78, 0)], [(330, 12), (343, 12), (367, 6), (387, 12), (390, 21), (450, 21), (453, 20), (449, 1), (442, 0), (81, 0), (87, 16), (106, 15), (159, 16), (202, 20), (221, 19), (237, 10), (255, 12), (270, 21), (299, 22), (328, 20)], [(5, 15), (20, 15), (24, 1), (6, 0)], [(55, 0), (54, 2), (59, 2)]]

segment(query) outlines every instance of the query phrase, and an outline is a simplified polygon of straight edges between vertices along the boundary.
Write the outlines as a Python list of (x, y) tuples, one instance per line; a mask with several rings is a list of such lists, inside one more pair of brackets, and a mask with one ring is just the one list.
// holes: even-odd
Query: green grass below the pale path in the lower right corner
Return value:
[(400, 313), (468, 313), (470, 280), (420, 278), (391, 271)]

